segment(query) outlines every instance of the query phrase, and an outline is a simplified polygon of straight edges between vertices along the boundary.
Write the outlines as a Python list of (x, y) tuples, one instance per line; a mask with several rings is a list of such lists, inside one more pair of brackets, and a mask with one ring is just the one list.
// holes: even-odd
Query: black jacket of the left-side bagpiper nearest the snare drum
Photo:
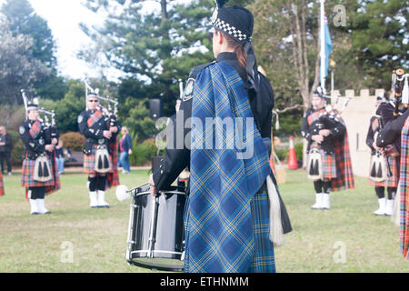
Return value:
[(85, 146), (83, 152), (86, 156), (89, 156), (93, 145), (105, 145), (108, 151), (111, 153), (109, 143), (115, 140), (121, 126), (118, 122), (115, 122), (115, 126), (118, 127), (118, 131), (116, 134), (113, 134), (110, 139), (107, 139), (104, 137), (104, 131), (109, 130), (109, 117), (103, 115), (94, 125), (88, 126), (87, 120), (93, 114), (94, 110), (85, 110), (78, 115), (79, 131), (85, 136)]

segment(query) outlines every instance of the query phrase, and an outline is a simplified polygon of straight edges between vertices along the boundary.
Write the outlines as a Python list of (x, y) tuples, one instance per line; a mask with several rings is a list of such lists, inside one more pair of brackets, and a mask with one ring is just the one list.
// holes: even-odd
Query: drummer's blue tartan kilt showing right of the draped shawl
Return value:
[(251, 200), (254, 254), (248, 273), (275, 273), (274, 244), (270, 240), (270, 213), (267, 192)]

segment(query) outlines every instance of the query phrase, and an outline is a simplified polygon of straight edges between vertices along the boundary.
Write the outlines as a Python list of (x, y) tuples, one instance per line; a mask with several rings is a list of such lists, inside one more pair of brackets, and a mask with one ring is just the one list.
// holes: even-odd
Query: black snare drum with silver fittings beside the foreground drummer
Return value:
[[(182, 191), (181, 191), (182, 190)], [(129, 264), (157, 270), (184, 269), (185, 189), (172, 187), (153, 197), (149, 187), (132, 194), (125, 258)]]

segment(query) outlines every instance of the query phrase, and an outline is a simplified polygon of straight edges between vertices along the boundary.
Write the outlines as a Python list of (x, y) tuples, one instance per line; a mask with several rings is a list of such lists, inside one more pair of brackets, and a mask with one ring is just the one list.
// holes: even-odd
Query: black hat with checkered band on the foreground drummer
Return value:
[(254, 16), (253, 14), (237, 5), (224, 7), (226, 1), (216, 1), (217, 7), (212, 16), (212, 25), (217, 30), (224, 32), (244, 45), (252, 40)]

